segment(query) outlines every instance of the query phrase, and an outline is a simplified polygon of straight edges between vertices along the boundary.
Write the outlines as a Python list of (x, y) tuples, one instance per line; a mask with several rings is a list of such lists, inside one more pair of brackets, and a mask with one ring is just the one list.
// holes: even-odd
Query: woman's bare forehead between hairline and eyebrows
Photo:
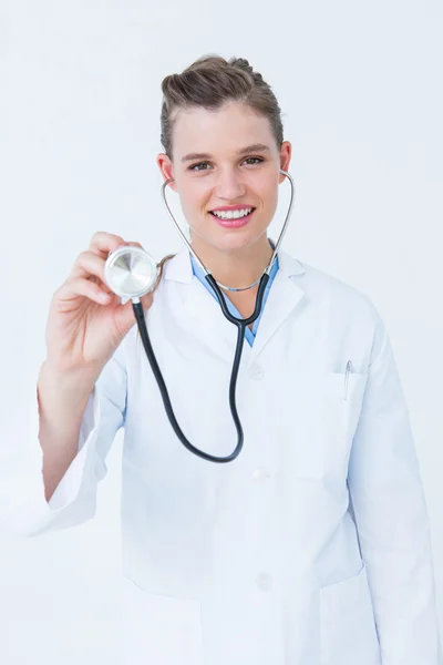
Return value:
[(269, 120), (240, 102), (216, 110), (196, 106), (181, 109), (173, 130), (174, 160), (189, 152), (236, 153), (239, 147), (264, 143), (274, 149)]

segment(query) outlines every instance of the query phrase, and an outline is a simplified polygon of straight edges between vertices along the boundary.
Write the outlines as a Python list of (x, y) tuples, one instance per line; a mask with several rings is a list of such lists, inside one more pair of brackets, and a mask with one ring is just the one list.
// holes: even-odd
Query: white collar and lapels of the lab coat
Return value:
[[(279, 269), (269, 290), (268, 299), (258, 326), (253, 347), (245, 340), (244, 357), (251, 361), (262, 351), (278, 328), (297, 306), (303, 290), (295, 276), (305, 273), (302, 265), (281, 249), (278, 253)], [(187, 283), (186, 297), (179, 313), (183, 324), (214, 351), (231, 361), (237, 340), (237, 328), (222, 313), (217, 300), (193, 275), (188, 248), (185, 246), (165, 267), (165, 279)]]

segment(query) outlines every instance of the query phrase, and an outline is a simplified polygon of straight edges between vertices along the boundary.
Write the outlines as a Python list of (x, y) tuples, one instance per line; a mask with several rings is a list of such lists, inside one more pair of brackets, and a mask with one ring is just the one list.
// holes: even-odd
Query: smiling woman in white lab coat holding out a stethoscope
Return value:
[[(199, 59), (162, 88), (162, 175), (174, 177), (203, 263), (246, 288), (271, 257), (267, 228), (291, 156), (277, 100), (243, 59)], [(419, 466), (371, 300), (279, 252), (246, 331), (245, 446), (210, 463), (178, 441), (132, 304), (106, 288), (105, 259), (122, 244), (94, 234), (52, 299), (38, 387), (43, 482), (11, 516), (16, 529), (92, 518), (124, 426), (125, 665), (441, 664)], [(237, 441), (237, 331), (187, 248), (163, 268), (143, 298), (153, 348), (181, 428), (224, 457)], [(224, 293), (253, 313), (257, 286)]]

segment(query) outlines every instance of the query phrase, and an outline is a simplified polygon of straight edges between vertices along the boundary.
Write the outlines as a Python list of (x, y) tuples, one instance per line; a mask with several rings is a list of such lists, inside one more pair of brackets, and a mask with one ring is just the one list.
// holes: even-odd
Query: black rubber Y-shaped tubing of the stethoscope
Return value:
[(230, 412), (233, 415), (233, 420), (234, 420), (234, 424), (237, 430), (238, 439), (237, 439), (236, 449), (234, 450), (234, 452), (231, 452), (227, 457), (224, 457), (224, 458), (216, 457), (216, 456), (209, 454), (208, 452), (204, 452), (203, 450), (199, 450), (198, 448), (193, 446), (190, 443), (190, 441), (188, 441), (186, 439), (185, 434), (183, 433), (183, 431), (177, 422), (177, 419), (175, 418), (175, 415), (174, 415), (174, 411), (173, 411), (173, 408), (171, 405), (169, 395), (167, 392), (166, 383), (163, 379), (162, 371), (161, 371), (161, 369), (158, 367), (158, 362), (155, 358), (154, 349), (152, 347), (152, 344), (150, 340), (150, 335), (147, 332), (145, 314), (144, 314), (142, 304), (133, 303), (133, 309), (134, 309), (135, 319), (137, 321), (142, 342), (143, 342), (147, 359), (150, 361), (151, 368), (153, 370), (154, 377), (157, 381), (157, 385), (158, 385), (158, 388), (159, 388), (159, 391), (162, 395), (163, 403), (164, 403), (164, 407), (166, 410), (166, 415), (168, 417), (168, 420), (171, 422), (171, 426), (172, 426), (174, 432), (176, 433), (176, 436), (178, 437), (178, 439), (181, 440), (183, 446), (185, 446), (185, 448), (187, 448), (187, 450), (189, 450), (189, 452), (193, 452), (197, 457), (200, 457), (202, 459), (207, 460), (209, 462), (225, 463), (225, 462), (234, 461), (239, 456), (239, 453), (243, 449), (243, 444), (244, 444), (244, 432), (243, 432), (240, 419), (238, 417), (237, 405), (236, 405), (236, 386), (237, 386), (238, 370), (240, 367), (241, 351), (243, 351), (243, 347), (244, 347), (245, 329), (246, 329), (246, 326), (249, 326), (258, 318), (258, 316), (261, 311), (261, 305), (262, 305), (262, 300), (264, 300), (264, 296), (265, 296), (265, 289), (269, 282), (269, 275), (267, 275), (265, 273), (261, 276), (260, 284), (258, 287), (258, 293), (257, 293), (256, 307), (255, 307), (254, 314), (247, 319), (238, 319), (238, 318), (234, 317), (229, 313), (229, 310), (226, 306), (225, 297), (224, 297), (222, 290), (219, 289), (214, 277), (212, 275), (207, 275), (206, 279), (210, 283), (214, 290), (216, 291), (216, 295), (218, 297), (218, 301), (222, 306), (224, 315), (233, 324), (235, 324), (238, 328), (237, 345), (236, 345), (233, 370), (230, 374), (230, 381), (229, 381), (229, 408), (230, 408)]

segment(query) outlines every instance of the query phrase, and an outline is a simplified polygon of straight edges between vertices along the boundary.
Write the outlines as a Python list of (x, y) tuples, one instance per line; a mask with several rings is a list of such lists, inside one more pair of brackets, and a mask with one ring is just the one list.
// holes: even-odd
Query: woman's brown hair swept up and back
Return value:
[(268, 117), (277, 145), (281, 147), (280, 106), (270, 85), (244, 58), (227, 61), (219, 55), (203, 55), (181, 74), (163, 79), (162, 91), (161, 141), (169, 160), (173, 154), (174, 111), (193, 106), (215, 110), (227, 101), (243, 102)]

